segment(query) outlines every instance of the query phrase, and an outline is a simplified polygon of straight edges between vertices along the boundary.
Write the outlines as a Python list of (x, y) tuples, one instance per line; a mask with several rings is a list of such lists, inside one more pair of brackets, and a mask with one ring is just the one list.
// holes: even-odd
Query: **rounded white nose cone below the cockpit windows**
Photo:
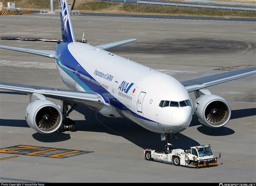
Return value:
[(179, 108), (172, 113), (172, 125), (188, 127), (192, 120), (192, 108), (191, 106), (185, 106)]

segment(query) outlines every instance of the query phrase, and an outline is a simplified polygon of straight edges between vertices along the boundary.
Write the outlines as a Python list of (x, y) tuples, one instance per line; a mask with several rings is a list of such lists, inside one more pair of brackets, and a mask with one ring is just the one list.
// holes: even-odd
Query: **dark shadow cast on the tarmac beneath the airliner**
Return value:
[[(152, 148), (162, 151), (165, 141), (160, 140), (160, 135), (133, 123), (130, 120), (124, 118), (108, 118), (104, 117), (95, 111), (78, 106), (76, 109), (78, 112), (85, 116), (85, 120), (75, 120), (78, 131), (90, 131), (90, 132), (103, 132), (111, 135), (121, 136), (133, 144), (141, 148)], [(237, 119), (242, 117), (254, 116), (256, 109), (241, 109), (232, 111), (231, 119)], [(196, 117), (193, 117), (190, 126), (201, 125)], [(14, 127), (29, 127), (25, 120), (15, 119), (0, 119), (0, 126), (14, 126)], [(206, 135), (231, 135), (234, 131), (228, 127), (210, 128), (204, 125), (198, 127), (198, 131)], [(72, 134), (71, 134), (72, 135)], [(65, 141), (71, 138), (70, 134), (66, 133), (53, 133), (53, 134), (41, 134), (34, 133), (32, 137), (42, 142), (58, 142)], [(187, 149), (190, 146), (199, 145), (199, 143), (186, 135), (179, 134), (178, 140), (171, 140), (173, 148)]]

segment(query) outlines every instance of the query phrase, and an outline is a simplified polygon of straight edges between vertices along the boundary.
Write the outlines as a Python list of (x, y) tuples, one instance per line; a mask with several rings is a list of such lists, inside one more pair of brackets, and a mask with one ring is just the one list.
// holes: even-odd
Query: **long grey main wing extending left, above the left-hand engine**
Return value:
[[(59, 100), (76, 103), (79, 105), (89, 106), (91, 108), (99, 108), (105, 102), (104, 99), (94, 92), (80, 92), (65, 89), (55, 89), (49, 87), (38, 87), (33, 85), (16, 84), (8, 82), (0, 82), (0, 89), (21, 92), (25, 94), (42, 94), (45, 97), (55, 98)], [(1, 92), (5, 93), (5, 92)], [(6, 94), (10, 94), (6, 92)]]

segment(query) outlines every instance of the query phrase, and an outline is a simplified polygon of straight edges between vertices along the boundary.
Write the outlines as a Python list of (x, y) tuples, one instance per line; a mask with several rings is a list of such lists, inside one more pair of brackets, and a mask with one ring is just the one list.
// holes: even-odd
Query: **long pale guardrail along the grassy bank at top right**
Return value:
[(256, 8), (230, 6), (230, 5), (210, 5), (210, 4), (193, 4), (193, 3), (168, 3), (168, 2), (153, 2), (153, 1), (137, 1), (137, 0), (99, 0), (102, 2), (118, 2), (118, 3), (132, 3), (132, 4), (149, 4), (160, 6), (181, 6), (188, 8), (203, 8), (203, 9), (223, 9), (223, 10), (241, 10), (241, 11), (256, 11)]

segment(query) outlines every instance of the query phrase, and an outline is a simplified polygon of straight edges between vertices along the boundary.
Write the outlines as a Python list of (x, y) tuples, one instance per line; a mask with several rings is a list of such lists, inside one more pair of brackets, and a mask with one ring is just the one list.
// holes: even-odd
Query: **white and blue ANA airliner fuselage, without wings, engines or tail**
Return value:
[[(102, 96), (106, 106), (98, 111), (103, 115), (129, 118), (157, 133), (178, 133), (190, 125), (191, 105), (159, 106), (161, 101), (190, 101), (175, 78), (87, 44), (72, 42), (66, 47), (70, 55), (62, 56), (65, 46), (56, 46), (62, 80), (71, 89)], [(76, 64), (69, 63), (74, 59)]]

